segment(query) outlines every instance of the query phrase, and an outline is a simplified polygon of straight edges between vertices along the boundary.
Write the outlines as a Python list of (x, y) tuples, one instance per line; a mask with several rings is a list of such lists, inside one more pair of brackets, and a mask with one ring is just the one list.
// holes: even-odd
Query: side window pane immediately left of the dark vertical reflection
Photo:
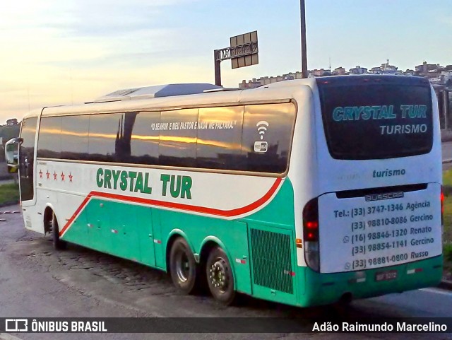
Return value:
[(124, 115), (121, 113), (90, 115), (88, 137), (89, 160), (99, 162), (120, 161), (117, 148), (124, 138)]

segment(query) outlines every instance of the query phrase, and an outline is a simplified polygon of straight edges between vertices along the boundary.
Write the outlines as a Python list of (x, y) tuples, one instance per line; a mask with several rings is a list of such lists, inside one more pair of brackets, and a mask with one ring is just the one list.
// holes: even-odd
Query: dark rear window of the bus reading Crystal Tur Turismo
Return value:
[(427, 79), (336, 76), (316, 82), (333, 158), (398, 158), (432, 149), (432, 95)]

